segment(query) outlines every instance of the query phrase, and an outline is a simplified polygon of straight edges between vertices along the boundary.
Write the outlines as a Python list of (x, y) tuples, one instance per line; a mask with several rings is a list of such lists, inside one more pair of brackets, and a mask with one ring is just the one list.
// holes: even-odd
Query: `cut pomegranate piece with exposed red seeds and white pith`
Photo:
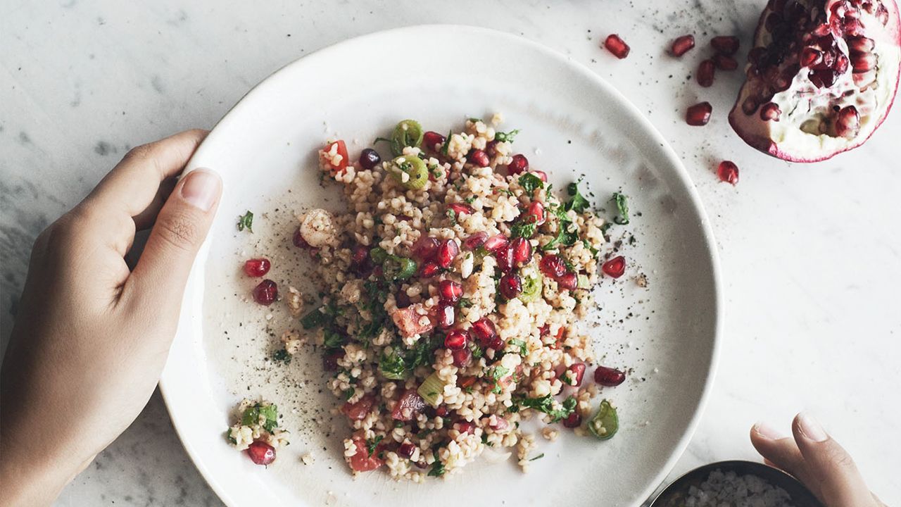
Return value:
[(856, 148), (895, 99), (899, 46), (895, 0), (769, 0), (729, 123), (787, 161)]

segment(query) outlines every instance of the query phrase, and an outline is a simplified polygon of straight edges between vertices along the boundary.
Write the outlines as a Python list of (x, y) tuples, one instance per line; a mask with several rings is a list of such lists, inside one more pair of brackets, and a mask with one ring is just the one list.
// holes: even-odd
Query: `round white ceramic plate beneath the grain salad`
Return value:
[[(288, 282), (305, 289), (304, 255), (290, 246), (293, 210), (341, 204), (319, 186), (315, 152), (326, 138), (348, 140), (355, 157), (404, 118), (446, 131), (497, 111), (506, 128), (522, 131), (514, 147), (558, 189), (584, 174), (599, 205), (617, 189), (631, 197), (632, 224), (611, 229), (614, 238), (637, 239), (623, 250), (630, 267), (601, 283), (601, 308), (587, 326), (605, 364), (633, 368), (626, 383), (602, 392), (619, 407), (619, 434), (605, 442), (565, 429), (555, 442), (538, 437), (544, 457), (526, 475), (511, 459), (427, 484), (384, 473), (353, 480), (341, 458), (349, 430), (327, 414), (337, 402), (320, 392), (319, 360), (309, 353), (287, 366), (267, 362), (291, 321), (284, 304), (246, 300), (254, 282), (239, 266), (265, 254), (283, 292)], [(225, 503), (637, 505), (686, 447), (714, 378), (722, 320), (714, 239), (676, 154), (588, 69), (500, 32), (379, 32), (317, 51), (253, 88), (196, 152), (189, 167), (199, 166), (222, 174), (225, 194), (160, 385), (189, 455)], [(236, 217), (248, 209), (255, 232), (239, 234)], [(640, 273), (647, 288), (634, 281)], [(259, 395), (278, 403), (292, 430), (291, 446), (268, 468), (223, 438), (234, 405)], [(312, 465), (300, 460), (307, 452)]]

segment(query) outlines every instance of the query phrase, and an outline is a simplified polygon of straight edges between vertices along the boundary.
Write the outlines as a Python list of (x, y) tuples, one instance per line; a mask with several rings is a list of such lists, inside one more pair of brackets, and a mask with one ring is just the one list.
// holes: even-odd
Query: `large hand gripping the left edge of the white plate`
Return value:
[(222, 193), (212, 171), (176, 180), (206, 134), (133, 149), (38, 236), (0, 372), (0, 504), (52, 502), (150, 399)]

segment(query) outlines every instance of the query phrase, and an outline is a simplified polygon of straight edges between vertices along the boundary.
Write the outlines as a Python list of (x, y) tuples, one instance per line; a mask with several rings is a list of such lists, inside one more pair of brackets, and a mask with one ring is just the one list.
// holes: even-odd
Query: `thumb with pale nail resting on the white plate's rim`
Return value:
[(159, 210), (141, 259), (125, 282), (123, 299), (147, 311), (177, 313), (187, 274), (213, 223), (222, 194), (214, 171), (188, 172)]

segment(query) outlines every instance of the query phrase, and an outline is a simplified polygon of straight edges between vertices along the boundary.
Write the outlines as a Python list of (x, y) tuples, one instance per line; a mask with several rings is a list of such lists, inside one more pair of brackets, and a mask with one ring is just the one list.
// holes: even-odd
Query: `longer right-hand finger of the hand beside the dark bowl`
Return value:
[(792, 432), (826, 505), (876, 505), (851, 455), (829, 437), (816, 419), (801, 412), (792, 422)]

